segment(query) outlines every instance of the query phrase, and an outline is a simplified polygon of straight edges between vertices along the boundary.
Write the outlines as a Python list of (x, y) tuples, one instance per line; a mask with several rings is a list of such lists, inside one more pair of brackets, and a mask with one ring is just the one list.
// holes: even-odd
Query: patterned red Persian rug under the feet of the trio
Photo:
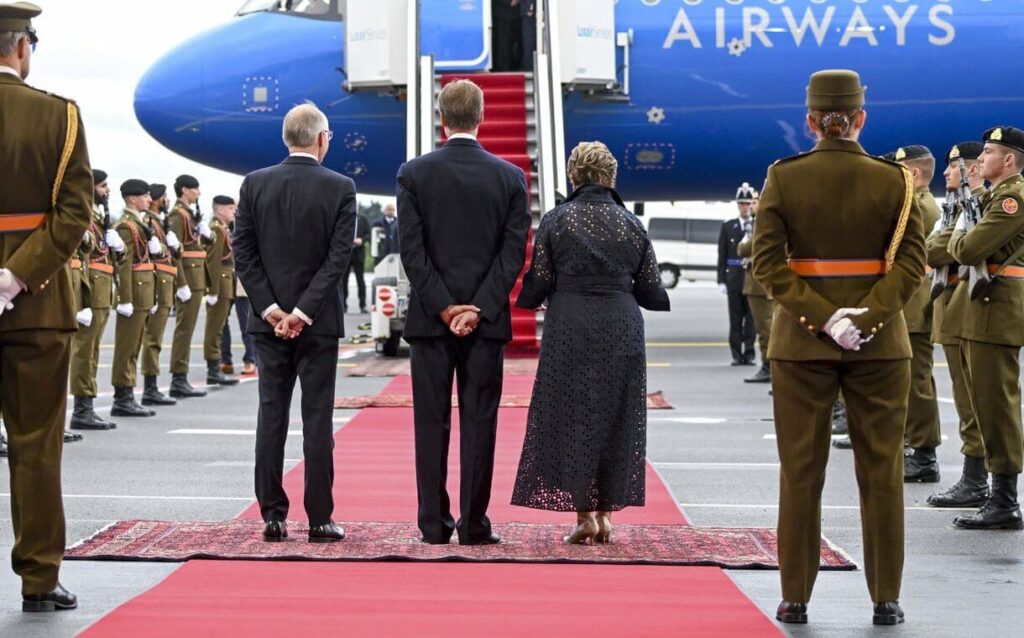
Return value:
[[(508, 523), (496, 526), (501, 545), (426, 545), (409, 523), (343, 523), (341, 543), (312, 544), (308, 527), (290, 522), (284, 543), (264, 543), (263, 523), (123, 520), (68, 549), (78, 560), (456, 560), (477, 562), (584, 562), (608, 564), (717, 565), (733, 569), (776, 569), (773, 529), (692, 525), (618, 525), (608, 545), (565, 545), (571, 525)], [(843, 550), (821, 542), (822, 569), (856, 569)]]

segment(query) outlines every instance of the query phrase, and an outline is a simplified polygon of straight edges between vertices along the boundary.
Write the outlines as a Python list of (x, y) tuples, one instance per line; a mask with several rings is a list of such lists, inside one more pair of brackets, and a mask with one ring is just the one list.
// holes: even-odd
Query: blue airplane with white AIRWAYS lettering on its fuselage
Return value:
[[(421, 4), (421, 52), (439, 72), (485, 73), (489, 0)], [(281, 160), (284, 113), (312, 100), (336, 132), (327, 164), (361, 193), (391, 195), (406, 159), (406, 104), (396, 92), (344, 88), (342, 7), (249, 0), (145, 74), (139, 122), (171, 151), (243, 174)], [(811, 147), (810, 73), (852, 68), (868, 86), (868, 152), (924, 143), (941, 158), (990, 126), (1021, 125), (1022, 57), (1011, 52), (1021, 8), (1010, 0), (617, 0), (615, 32), (632, 31), (628, 69), (616, 47), (629, 94), (568, 91), (565, 144), (607, 143), (626, 199), (728, 199), (740, 181), (760, 182), (774, 160)]]

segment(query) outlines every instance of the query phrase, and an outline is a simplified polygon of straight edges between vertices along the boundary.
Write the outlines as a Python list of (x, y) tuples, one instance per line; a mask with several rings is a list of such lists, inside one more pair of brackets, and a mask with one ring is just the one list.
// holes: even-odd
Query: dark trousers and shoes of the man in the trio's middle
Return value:
[[(486, 539), (505, 342), (445, 335), (410, 345), (420, 531), (430, 543), (446, 543), (455, 530), (462, 543)], [(459, 394), (458, 523), (447, 493), (453, 377)]]

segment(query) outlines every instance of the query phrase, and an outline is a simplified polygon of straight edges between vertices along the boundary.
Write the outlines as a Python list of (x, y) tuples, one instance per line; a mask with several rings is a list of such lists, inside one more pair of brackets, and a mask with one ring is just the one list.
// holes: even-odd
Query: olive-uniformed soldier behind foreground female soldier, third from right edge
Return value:
[[(901, 146), (887, 159), (899, 162), (913, 177), (914, 197), (924, 216), (925, 228), (931, 231), (941, 212), (929, 185), (935, 177), (935, 156), (927, 146)], [(932, 344), (932, 280), (925, 278), (921, 287), (903, 308), (906, 329), (910, 334), (910, 399), (906, 411), (906, 444), (913, 454), (905, 457), (903, 480), (906, 482), (939, 482), (939, 462), (935, 449), (942, 443), (939, 425), (939, 399), (935, 393), (935, 345)]]

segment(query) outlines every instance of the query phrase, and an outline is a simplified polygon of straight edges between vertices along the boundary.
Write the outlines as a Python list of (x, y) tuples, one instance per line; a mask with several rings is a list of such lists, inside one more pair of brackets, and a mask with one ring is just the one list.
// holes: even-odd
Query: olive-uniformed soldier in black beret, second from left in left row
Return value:
[(141, 179), (129, 179), (121, 184), (121, 197), (125, 201), (125, 211), (117, 230), (125, 243), (125, 256), (118, 266), (111, 414), (115, 417), (153, 417), (156, 412), (135, 400), (135, 379), (145, 321), (158, 310), (153, 260), (163, 254), (163, 246), (153, 235), (142, 212), (150, 208), (150, 184)]

